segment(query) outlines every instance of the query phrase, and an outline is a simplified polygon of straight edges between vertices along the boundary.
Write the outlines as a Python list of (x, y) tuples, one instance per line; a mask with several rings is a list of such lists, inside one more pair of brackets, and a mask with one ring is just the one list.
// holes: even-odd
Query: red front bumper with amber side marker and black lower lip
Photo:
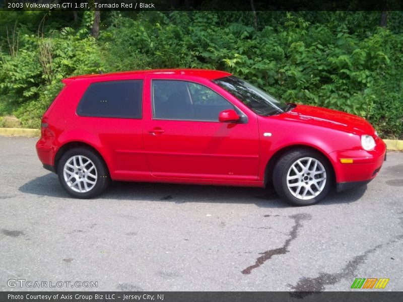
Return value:
[[(376, 177), (386, 159), (386, 144), (378, 138), (372, 151), (342, 150), (332, 152), (329, 156), (333, 162), (338, 191), (339, 188), (345, 190), (366, 184)], [(342, 164), (341, 159), (352, 159), (353, 163)]]

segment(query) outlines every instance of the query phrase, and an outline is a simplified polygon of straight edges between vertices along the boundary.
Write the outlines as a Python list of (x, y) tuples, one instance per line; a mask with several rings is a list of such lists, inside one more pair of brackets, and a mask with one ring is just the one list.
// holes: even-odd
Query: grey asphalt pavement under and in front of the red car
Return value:
[(274, 190), (151, 183), (73, 199), (35, 142), (0, 137), (0, 290), (403, 290), (403, 153), (364, 187), (292, 207)]

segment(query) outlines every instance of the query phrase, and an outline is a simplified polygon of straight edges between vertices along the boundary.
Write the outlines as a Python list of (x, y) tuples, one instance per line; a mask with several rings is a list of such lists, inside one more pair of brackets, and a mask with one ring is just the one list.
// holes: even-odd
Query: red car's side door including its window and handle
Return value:
[[(144, 121), (147, 164), (155, 177), (256, 181), (259, 137), (256, 117), (247, 118), (211, 87), (152, 79), (152, 116)], [(234, 109), (242, 121), (219, 122)]]

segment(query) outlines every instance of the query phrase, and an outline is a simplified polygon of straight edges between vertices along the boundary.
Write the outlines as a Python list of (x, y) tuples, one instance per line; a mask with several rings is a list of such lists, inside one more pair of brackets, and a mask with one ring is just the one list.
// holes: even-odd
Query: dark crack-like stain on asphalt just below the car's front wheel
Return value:
[[(264, 217), (270, 217), (270, 215), (264, 215)], [(291, 242), (297, 238), (298, 230), (302, 227), (301, 221), (311, 219), (310, 214), (304, 214), (304, 213), (295, 214), (295, 215), (291, 215), (288, 217), (293, 219), (295, 224), (293, 225), (293, 228), (291, 229), (290, 233), (288, 234), (289, 238), (284, 242), (284, 245), (278, 249), (268, 250), (263, 253), (259, 253), (262, 256), (260, 256), (259, 258), (256, 259), (255, 264), (245, 268), (242, 271), (242, 274), (244, 274), (244, 275), (250, 274), (253, 269), (258, 268), (260, 265), (262, 265), (267, 260), (271, 259), (273, 256), (284, 255), (284, 254), (288, 253), (289, 252), (288, 247), (290, 246)]]

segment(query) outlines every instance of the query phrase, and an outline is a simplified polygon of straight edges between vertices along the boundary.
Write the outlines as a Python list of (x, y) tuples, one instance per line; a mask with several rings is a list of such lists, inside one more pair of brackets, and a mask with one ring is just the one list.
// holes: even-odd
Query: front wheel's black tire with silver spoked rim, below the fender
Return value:
[[(308, 166), (309, 160), (305, 159), (305, 158), (312, 158), (314, 160), (316, 160), (317, 162), (319, 162), (322, 167), (324, 168), (325, 174), (316, 174), (316, 173), (312, 173), (310, 172), (303, 172), (304, 170), (302, 169), (302, 167), (300, 167), (301, 171), (299, 171), (300, 174), (297, 174), (296, 172), (290, 172), (290, 173), (294, 173), (293, 177), (296, 177), (297, 179), (295, 180), (295, 186), (293, 186), (292, 188), (288, 187), (287, 184), (287, 175), (289, 173), (289, 171), (291, 171), (291, 167), (294, 164), (297, 164), (298, 160), (302, 160), (301, 163), (302, 164), (306, 164)], [(305, 159), (305, 160), (304, 160)], [(312, 161), (313, 164), (311, 164), (311, 169), (313, 169), (314, 166), (314, 161)], [(320, 165), (318, 164), (316, 167), (320, 167)], [(298, 169), (298, 167), (296, 167)], [(318, 168), (317, 168), (318, 169)], [(320, 168), (321, 169), (321, 168)], [(318, 171), (318, 170), (316, 170)], [(322, 170), (320, 170), (322, 171)], [(309, 175), (307, 175), (309, 174)], [(317, 176), (316, 176), (317, 175)], [(312, 178), (311, 178), (312, 177)], [(319, 182), (318, 186), (314, 186), (313, 184), (311, 185), (311, 181), (314, 182), (314, 178), (325, 178), (324, 183)], [(306, 182), (303, 180), (307, 180)], [(291, 180), (291, 182), (294, 180)], [(303, 182), (304, 184), (302, 184), (302, 186), (297, 184), (301, 184), (301, 182)], [(314, 150), (311, 149), (307, 149), (307, 148), (299, 148), (299, 149), (294, 149), (291, 150), (290, 152), (285, 153), (276, 163), (274, 170), (273, 170), (273, 185), (274, 188), (276, 190), (276, 192), (280, 195), (280, 197), (282, 197), (285, 201), (287, 201), (288, 203), (292, 204), (292, 205), (296, 205), (296, 206), (305, 206), (305, 205), (312, 205), (315, 203), (318, 203), (321, 199), (323, 199), (327, 193), (329, 192), (331, 185), (333, 182), (333, 171), (332, 168), (329, 164), (329, 162), (327, 161), (327, 159), (321, 155), (318, 152), (315, 152)], [(306, 184), (306, 186), (305, 186)], [(323, 184), (323, 187), (322, 185)], [(291, 185), (290, 185), (291, 186)], [(296, 187), (295, 191), (294, 188)], [(309, 189), (307, 188), (309, 187)], [(317, 189), (318, 187), (321, 187), (320, 189)], [(309, 192), (309, 195), (306, 196), (307, 198), (310, 199), (302, 199), (302, 195), (305, 192), (305, 190)], [(293, 191), (294, 193), (292, 193), (291, 191)], [(301, 192), (299, 194), (299, 192)], [(314, 196), (313, 193), (318, 193), (316, 196)], [(320, 192), (320, 193), (319, 193)], [(297, 198), (296, 196), (294, 196), (293, 194), (300, 196), (300, 198)]]

